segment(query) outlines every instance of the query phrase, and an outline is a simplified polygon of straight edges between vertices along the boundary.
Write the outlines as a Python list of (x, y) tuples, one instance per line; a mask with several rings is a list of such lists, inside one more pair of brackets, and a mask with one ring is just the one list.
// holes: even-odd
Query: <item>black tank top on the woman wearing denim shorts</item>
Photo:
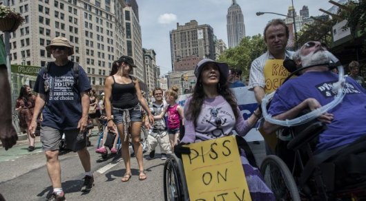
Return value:
[(130, 76), (132, 82), (128, 84), (116, 83), (115, 77), (112, 76), (112, 78), (114, 81), (112, 85), (112, 107), (119, 109), (135, 107), (139, 103), (139, 100), (137, 99), (135, 83), (132, 76)]

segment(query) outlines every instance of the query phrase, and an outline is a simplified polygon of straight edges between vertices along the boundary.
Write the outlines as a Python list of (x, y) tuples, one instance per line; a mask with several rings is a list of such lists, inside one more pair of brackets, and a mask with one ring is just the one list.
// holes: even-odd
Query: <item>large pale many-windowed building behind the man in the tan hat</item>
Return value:
[(10, 7), (26, 19), (10, 34), (12, 65), (40, 67), (53, 61), (46, 45), (64, 36), (74, 45), (70, 59), (84, 67), (97, 92), (103, 90), (113, 61), (122, 55), (133, 56), (134, 74), (143, 81), (141, 28), (137, 14), (124, 1), (10, 1)]

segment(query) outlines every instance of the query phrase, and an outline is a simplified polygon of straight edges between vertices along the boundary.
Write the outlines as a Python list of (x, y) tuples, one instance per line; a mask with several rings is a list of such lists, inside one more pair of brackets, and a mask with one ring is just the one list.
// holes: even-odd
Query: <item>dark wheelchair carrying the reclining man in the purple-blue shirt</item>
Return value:
[[(264, 158), (260, 171), (277, 200), (366, 200), (365, 171), (354, 174), (358, 178), (347, 179), (347, 175), (339, 175), (342, 167), (349, 165), (342, 165), (340, 156), (345, 158), (355, 152), (366, 153), (366, 138), (314, 154), (318, 136), (325, 129), (327, 126), (316, 120), (291, 127), (288, 134), (292, 140), (279, 148), (285, 149), (291, 157), (280, 154), (280, 157), (271, 155)], [(280, 152), (276, 150), (276, 154)]]

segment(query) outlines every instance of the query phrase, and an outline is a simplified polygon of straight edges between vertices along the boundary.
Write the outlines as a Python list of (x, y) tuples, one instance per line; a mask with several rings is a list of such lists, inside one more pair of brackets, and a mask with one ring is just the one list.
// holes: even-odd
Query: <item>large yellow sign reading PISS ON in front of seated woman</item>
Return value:
[(186, 145), (184, 173), (193, 201), (251, 200), (235, 136)]

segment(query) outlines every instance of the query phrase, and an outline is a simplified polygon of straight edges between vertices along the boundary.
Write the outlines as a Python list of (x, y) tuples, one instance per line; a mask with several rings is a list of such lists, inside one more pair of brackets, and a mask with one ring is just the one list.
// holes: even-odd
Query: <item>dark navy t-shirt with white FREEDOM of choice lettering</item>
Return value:
[(34, 91), (46, 94), (46, 105), (43, 110), (42, 126), (55, 129), (76, 129), (82, 114), (81, 92), (91, 89), (88, 76), (79, 65), (79, 78), (77, 86), (74, 85), (73, 62), (69, 61), (64, 66), (51, 63), (48, 70), (50, 89), (44, 90), (44, 69), (37, 76)]

